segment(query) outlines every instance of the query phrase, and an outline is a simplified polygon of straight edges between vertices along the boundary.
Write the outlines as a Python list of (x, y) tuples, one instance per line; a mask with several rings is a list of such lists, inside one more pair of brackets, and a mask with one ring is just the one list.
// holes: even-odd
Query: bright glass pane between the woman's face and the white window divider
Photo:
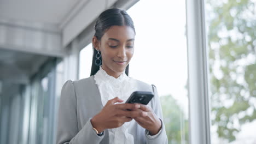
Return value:
[(127, 11), (136, 29), (130, 76), (158, 88), (169, 143), (188, 143), (185, 1), (139, 1)]

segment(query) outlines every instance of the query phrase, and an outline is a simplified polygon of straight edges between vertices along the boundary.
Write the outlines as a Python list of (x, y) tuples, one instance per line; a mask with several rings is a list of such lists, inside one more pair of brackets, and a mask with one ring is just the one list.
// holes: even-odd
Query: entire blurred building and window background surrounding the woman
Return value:
[(121, 8), (136, 28), (129, 76), (158, 88), (168, 142), (255, 144), (255, 4), (0, 0), (0, 143), (55, 143), (62, 85), (90, 76), (96, 17)]

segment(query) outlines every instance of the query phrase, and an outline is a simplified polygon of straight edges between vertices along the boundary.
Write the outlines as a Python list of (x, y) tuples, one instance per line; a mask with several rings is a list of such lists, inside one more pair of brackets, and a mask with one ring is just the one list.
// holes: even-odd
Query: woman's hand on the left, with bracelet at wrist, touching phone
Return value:
[(123, 100), (118, 97), (108, 100), (101, 112), (91, 119), (92, 127), (96, 128), (99, 133), (104, 129), (117, 128), (125, 122), (130, 122), (132, 120), (131, 111), (127, 111), (127, 109), (139, 108), (138, 104), (115, 104), (117, 102), (121, 103)]

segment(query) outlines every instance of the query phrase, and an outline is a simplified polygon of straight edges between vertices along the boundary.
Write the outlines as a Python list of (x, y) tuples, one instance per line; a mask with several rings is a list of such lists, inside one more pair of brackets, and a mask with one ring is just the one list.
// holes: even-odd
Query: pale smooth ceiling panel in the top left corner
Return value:
[(0, 0), (0, 19), (60, 25), (80, 1), (83, 0)]

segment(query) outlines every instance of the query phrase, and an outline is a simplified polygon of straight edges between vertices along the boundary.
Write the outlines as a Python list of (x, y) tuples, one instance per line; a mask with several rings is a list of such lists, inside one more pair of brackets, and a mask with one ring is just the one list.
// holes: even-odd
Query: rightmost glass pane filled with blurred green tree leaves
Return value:
[(256, 143), (255, 4), (206, 1), (212, 143)]

